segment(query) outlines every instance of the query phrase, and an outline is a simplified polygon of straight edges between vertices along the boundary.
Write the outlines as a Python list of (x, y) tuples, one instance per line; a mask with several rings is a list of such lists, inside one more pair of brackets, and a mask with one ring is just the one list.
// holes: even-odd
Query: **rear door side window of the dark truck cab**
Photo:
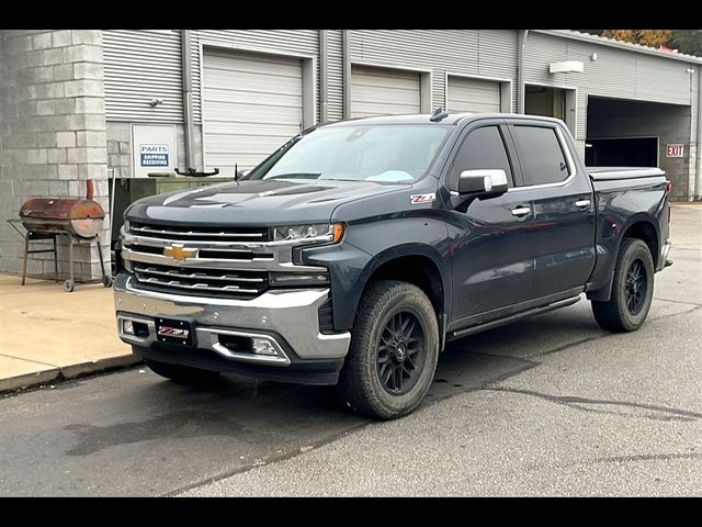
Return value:
[(524, 184), (558, 183), (568, 177), (568, 165), (555, 128), (514, 126)]

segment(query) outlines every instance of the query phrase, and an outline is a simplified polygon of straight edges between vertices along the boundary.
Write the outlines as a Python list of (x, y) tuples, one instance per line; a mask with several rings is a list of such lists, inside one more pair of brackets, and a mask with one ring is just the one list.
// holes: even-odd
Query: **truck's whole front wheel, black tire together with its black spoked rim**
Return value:
[(373, 282), (359, 304), (337, 396), (360, 414), (401, 417), (427, 395), (438, 359), (439, 324), (424, 292), (406, 282)]

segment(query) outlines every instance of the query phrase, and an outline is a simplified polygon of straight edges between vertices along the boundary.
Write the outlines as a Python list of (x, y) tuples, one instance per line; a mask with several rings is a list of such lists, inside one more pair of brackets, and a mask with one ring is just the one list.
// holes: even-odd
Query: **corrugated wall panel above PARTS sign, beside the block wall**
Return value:
[(102, 42), (106, 120), (182, 123), (180, 30), (104, 30)]

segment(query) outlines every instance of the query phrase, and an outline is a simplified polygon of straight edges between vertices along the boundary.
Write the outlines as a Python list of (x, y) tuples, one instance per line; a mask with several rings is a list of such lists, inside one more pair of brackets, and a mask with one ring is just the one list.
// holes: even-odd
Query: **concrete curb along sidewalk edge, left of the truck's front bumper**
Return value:
[(61, 368), (49, 368), (47, 370), (35, 371), (32, 373), (8, 377), (0, 379), (0, 394), (36, 388), (50, 382), (69, 381), (94, 373), (127, 368), (139, 362), (141, 362), (141, 359), (138, 356), (128, 354), (116, 357), (106, 357), (104, 359), (98, 359), (89, 362), (81, 362), (78, 365), (68, 365)]

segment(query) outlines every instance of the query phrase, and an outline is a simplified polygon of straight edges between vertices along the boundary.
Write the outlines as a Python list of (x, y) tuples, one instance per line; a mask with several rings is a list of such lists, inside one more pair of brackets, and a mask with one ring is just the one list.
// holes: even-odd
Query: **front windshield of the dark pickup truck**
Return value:
[(415, 182), (429, 168), (448, 127), (363, 125), (317, 128), (292, 141), (247, 179)]

